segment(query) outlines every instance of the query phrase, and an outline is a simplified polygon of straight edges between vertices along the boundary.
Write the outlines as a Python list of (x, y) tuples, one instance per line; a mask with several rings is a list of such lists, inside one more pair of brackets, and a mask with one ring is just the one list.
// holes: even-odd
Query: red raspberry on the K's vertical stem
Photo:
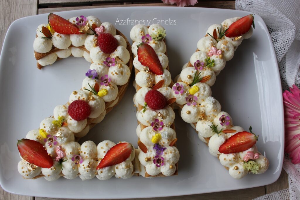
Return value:
[(157, 90), (150, 90), (145, 96), (145, 102), (153, 110), (163, 109), (167, 104), (166, 97)]

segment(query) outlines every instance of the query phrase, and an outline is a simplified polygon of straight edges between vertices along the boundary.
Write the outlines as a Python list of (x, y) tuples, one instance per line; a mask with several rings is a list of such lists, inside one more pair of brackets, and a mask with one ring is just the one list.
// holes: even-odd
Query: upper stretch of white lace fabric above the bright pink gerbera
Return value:
[(300, 87), (300, 1), (236, 0), (235, 9), (262, 17), (274, 45), (282, 89), (292, 84)]

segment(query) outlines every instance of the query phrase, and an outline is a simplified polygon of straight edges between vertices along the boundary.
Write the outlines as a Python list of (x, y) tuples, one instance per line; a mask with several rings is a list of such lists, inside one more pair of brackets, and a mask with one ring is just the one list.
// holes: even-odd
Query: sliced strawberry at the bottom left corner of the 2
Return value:
[(29, 139), (18, 140), (19, 152), (24, 160), (41, 168), (50, 168), (53, 165), (51, 156), (43, 144)]

